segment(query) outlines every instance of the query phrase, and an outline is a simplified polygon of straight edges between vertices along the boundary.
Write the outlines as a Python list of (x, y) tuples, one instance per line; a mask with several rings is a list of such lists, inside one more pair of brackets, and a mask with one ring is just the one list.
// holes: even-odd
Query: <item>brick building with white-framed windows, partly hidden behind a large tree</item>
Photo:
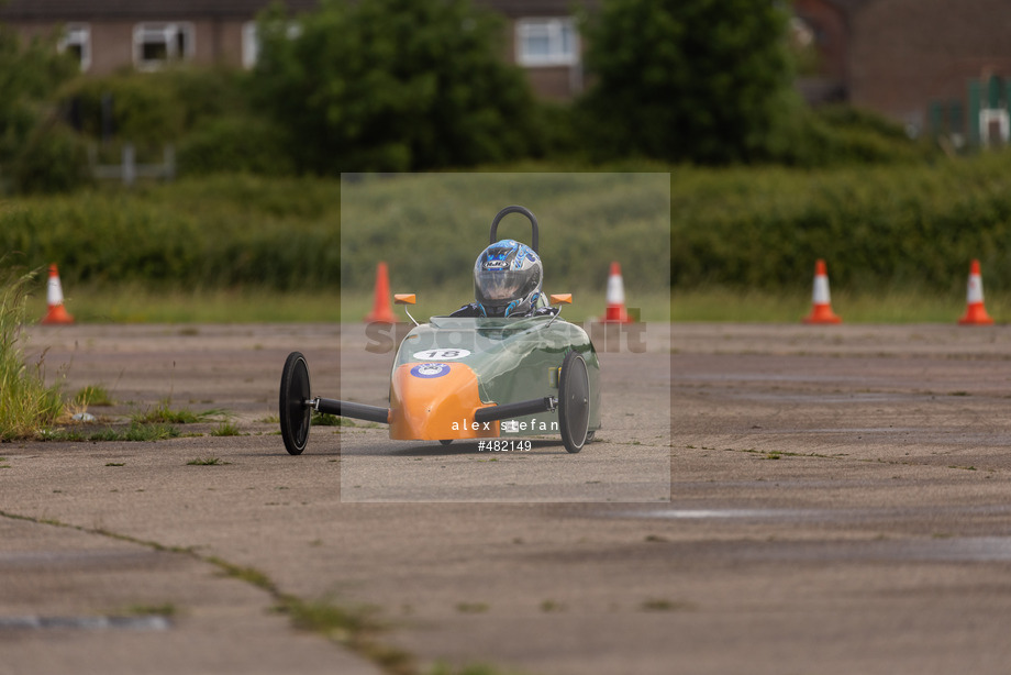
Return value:
[[(570, 0), (479, 0), (508, 21), (505, 57), (545, 98), (582, 89), (582, 48)], [(584, 4), (592, 0), (584, 0)], [(153, 70), (170, 62), (252, 67), (256, 14), (269, 0), (8, 0), (0, 21), (25, 36), (57, 33), (81, 70)], [(293, 12), (319, 0), (285, 0)], [(335, 36), (335, 38), (340, 38)]]

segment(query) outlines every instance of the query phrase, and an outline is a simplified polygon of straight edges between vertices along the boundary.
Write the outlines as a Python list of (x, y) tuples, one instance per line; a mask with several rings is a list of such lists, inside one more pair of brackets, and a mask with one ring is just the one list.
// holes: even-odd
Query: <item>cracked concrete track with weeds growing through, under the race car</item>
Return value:
[[(316, 428), (305, 454), (285, 454), (264, 420), (288, 351), (307, 354), (324, 395), (340, 386), (364, 400), (382, 387), (374, 355), (348, 347), (336, 327), (32, 329), (30, 351), (49, 347), (51, 377), (69, 364), (68, 390), (102, 384), (120, 401), (95, 413), (170, 395), (174, 408), (234, 412), (249, 435), (210, 436), (210, 423), (184, 429), (204, 435), (156, 443), (0, 445), (0, 619), (174, 608), (167, 630), (0, 621), (0, 673), (376, 672), (293, 630), (268, 594), (221, 577), (211, 556), (307, 600), (373, 607), (391, 627), (382, 640), (421, 664), (1007, 672), (1011, 330), (670, 333), (667, 354), (602, 358), (610, 431), (599, 443), (575, 456), (538, 445), (522, 462), (490, 464), (466, 444), (392, 443), (363, 427)], [(669, 373), (670, 402), (657, 413), (644, 383), (668, 358), (659, 376)], [(669, 501), (635, 474), (667, 444), (658, 431), (670, 438)], [(223, 463), (187, 465), (198, 457)], [(431, 480), (434, 501), (342, 501), (349, 457), (364, 462), (355, 485), (378, 499), (424, 467), (415, 475)], [(565, 463), (591, 471), (609, 457), (631, 465), (614, 473), (621, 502), (595, 500), (608, 498), (597, 484), (575, 501), (546, 499), (570, 486)], [(531, 463), (543, 480), (523, 482)], [(443, 465), (468, 482), (519, 467), (516, 490), (540, 502), (453, 501), (460, 485), (430, 471)]]

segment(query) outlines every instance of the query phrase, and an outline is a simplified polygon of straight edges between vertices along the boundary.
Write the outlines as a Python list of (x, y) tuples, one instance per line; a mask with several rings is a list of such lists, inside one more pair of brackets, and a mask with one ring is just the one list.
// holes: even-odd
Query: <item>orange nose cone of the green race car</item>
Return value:
[(477, 375), (462, 363), (405, 363), (390, 379), (390, 438), (409, 441), (498, 438), (499, 423), (474, 421), (486, 407)]

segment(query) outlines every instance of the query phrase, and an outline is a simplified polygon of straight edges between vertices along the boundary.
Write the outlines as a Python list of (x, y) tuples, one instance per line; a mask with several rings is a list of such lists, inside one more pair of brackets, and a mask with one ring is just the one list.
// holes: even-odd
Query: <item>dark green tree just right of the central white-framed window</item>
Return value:
[(603, 0), (585, 22), (580, 101), (603, 154), (704, 164), (781, 152), (799, 112), (773, 0)]

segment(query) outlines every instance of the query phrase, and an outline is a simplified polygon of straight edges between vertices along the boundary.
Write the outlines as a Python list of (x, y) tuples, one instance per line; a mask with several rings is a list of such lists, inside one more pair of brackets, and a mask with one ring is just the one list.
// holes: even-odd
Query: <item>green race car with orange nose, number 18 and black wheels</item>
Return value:
[[(522, 213), (530, 220), (533, 247), (511, 240), (496, 242), (501, 219)], [(496, 252), (510, 250), (512, 257), (490, 256), (490, 275), (500, 284), (497, 268), (519, 268), (512, 259), (524, 254), (537, 265), (537, 221), (523, 207), (507, 207), (491, 224)], [(514, 251), (519, 250), (519, 256)], [(487, 251), (486, 251), (487, 253)], [(531, 255), (531, 253), (533, 255)], [(485, 255), (485, 258), (489, 256)], [(481, 265), (482, 258), (478, 258)], [(529, 263), (523, 263), (529, 264)], [(540, 274), (540, 270), (537, 270)], [(525, 292), (525, 291), (516, 291)], [(309, 440), (312, 411), (389, 424), (390, 439), (441, 441), (457, 439), (510, 439), (560, 434), (568, 452), (579, 452), (600, 428), (600, 364), (582, 328), (563, 320), (558, 310), (536, 290), (524, 296), (527, 311), (492, 316), (491, 292), (477, 292), (489, 316), (432, 317), (416, 324), (400, 343), (390, 373), (390, 406), (380, 408), (352, 401), (313, 398), (309, 366), (299, 352), (289, 354), (281, 373), (279, 397), (281, 436), (291, 454), (301, 454)], [(486, 297), (487, 296), (487, 297)], [(504, 297), (502, 302), (510, 300)], [(412, 305), (413, 295), (398, 295), (397, 302)], [(570, 295), (551, 296), (552, 305), (571, 302)], [(510, 308), (516, 306), (511, 301)], [(463, 308), (462, 308), (463, 309)], [(464, 312), (466, 313), (466, 312)], [(408, 314), (410, 316), (410, 313)]]

